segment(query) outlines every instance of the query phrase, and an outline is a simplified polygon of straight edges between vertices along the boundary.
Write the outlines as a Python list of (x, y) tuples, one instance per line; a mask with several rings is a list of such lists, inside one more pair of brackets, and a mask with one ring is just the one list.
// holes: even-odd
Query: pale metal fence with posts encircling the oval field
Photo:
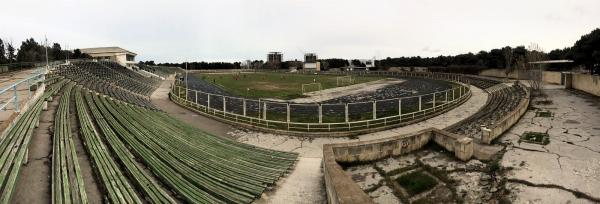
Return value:
[[(462, 83), (461, 75), (414, 72), (352, 72), (352, 74), (433, 78), (454, 82), (455, 87), (434, 93), (370, 102), (305, 104), (212, 94), (187, 89), (183, 83), (176, 81), (172, 85), (170, 97), (180, 105), (236, 124), (293, 132), (352, 132), (417, 121), (462, 104), (471, 95), (469, 85)], [(381, 111), (382, 107), (378, 107), (382, 105), (386, 106), (383, 107), (383, 111)], [(312, 112), (293, 111), (302, 109), (301, 107), (312, 107)], [(337, 117), (332, 117), (331, 114), (324, 112), (326, 107), (338, 107), (340, 113)], [(312, 118), (307, 119), (307, 116)]]

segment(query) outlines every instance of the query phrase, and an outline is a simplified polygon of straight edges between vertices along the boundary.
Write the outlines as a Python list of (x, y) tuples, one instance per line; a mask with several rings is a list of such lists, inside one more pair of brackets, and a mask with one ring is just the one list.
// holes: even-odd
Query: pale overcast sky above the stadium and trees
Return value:
[(120, 46), (157, 62), (438, 56), (538, 43), (600, 27), (599, 0), (5, 0), (0, 38)]

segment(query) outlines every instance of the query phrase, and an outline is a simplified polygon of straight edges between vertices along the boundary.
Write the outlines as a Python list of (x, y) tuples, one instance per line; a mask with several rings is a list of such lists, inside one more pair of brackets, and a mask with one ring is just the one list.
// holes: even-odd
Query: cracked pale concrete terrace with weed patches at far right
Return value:
[[(498, 142), (507, 145), (501, 165), (517, 203), (600, 202), (600, 98), (546, 85)], [(538, 101), (551, 101), (551, 104)], [(536, 117), (548, 110), (552, 117)], [(548, 133), (547, 145), (519, 142), (526, 131)]]

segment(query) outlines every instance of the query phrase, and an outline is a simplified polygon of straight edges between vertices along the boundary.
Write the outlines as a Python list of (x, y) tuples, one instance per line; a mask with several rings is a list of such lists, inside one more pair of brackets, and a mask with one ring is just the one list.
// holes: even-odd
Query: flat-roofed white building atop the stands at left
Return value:
[(88, 54), (97, 60), (110, 60), (121, 66), (131, 68), (135, 62), (134, 52), (120, 47), (94, 47), (81, 49), (81, 53)]

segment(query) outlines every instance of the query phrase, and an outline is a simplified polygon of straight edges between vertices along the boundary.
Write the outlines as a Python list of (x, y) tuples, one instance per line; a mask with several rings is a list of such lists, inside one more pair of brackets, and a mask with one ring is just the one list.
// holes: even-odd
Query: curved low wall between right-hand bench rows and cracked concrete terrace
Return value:
[(483, 143), (490, 144), (492, 140), (496, 139), (506, 130), (510, 129), (515, 123), (519, 121), (521, 116), (527, 112), (527, 108), (529, 107), (529, 89), (522, 86), (525, 90), (525, 98), (519, 102), (517, 107), (506, 114), (502, 119), (498, 120), (496, 123), (490, 125), (489, 127), (481, 127), (482, 135), (481, 140)]

